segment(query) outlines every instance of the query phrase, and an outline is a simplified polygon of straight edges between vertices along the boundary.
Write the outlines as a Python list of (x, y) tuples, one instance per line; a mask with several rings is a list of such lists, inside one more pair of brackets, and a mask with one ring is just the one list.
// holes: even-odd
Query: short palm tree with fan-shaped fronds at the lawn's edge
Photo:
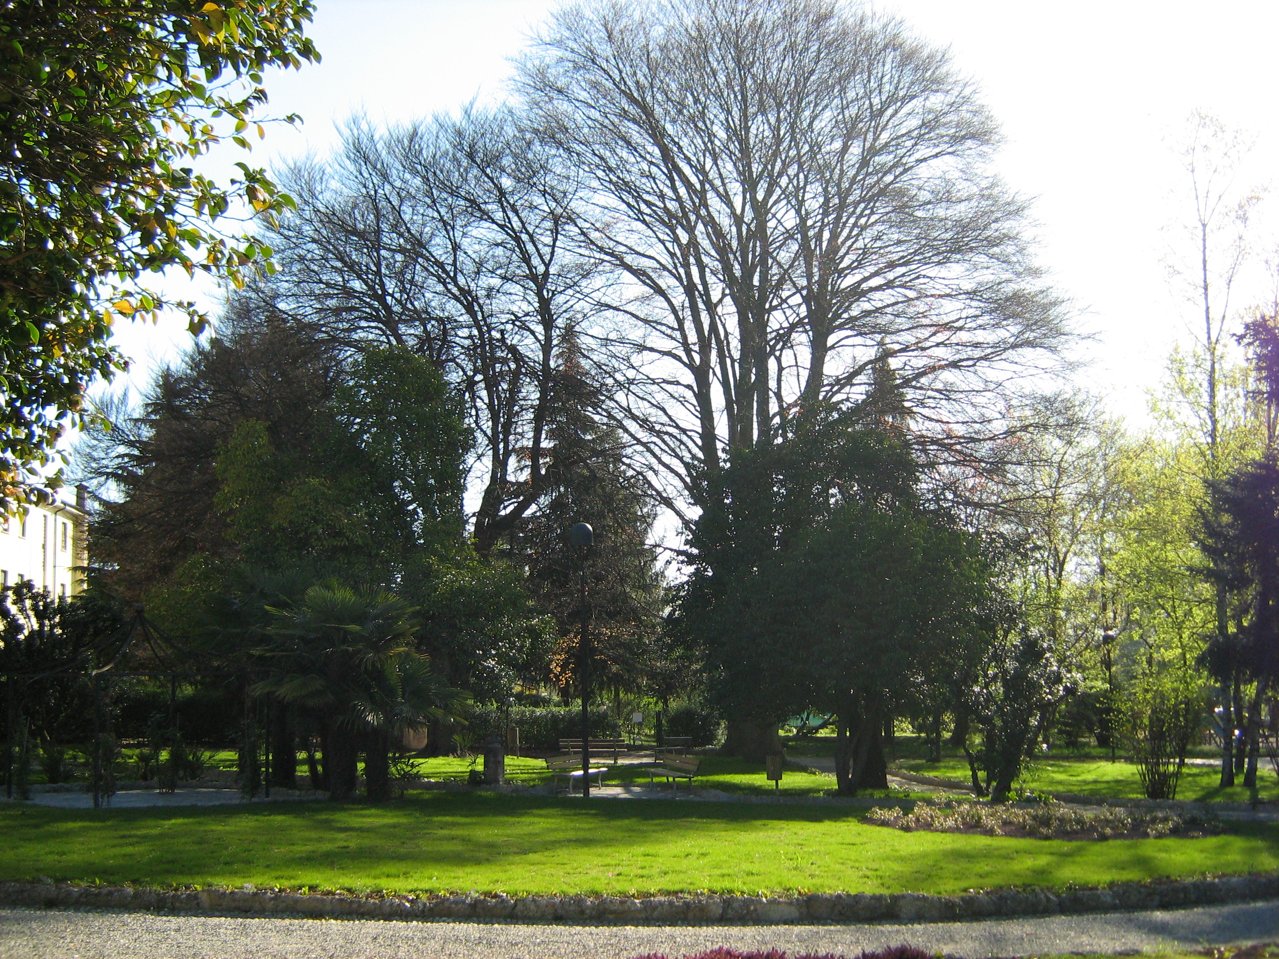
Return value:
[(270, 642), (256, 652), (271, 675), (255, 692), (329, 719), (325, 772), (334, 799), (356, 791), (361, 749), (368, 798), (390, 798), (391, 742), (457, 716), (466, 699), (418, 652), (416, 607), (388, 592), (322, 583), (266, 611)]

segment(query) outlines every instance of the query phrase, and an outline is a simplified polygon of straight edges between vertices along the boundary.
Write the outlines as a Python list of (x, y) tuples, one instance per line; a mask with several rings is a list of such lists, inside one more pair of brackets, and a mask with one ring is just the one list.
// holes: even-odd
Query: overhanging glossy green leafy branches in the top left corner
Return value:
[[(239, 164), (220, 187), (183, 166), (243, 136), (261, 72), (317, 60), (310, 0), (13, 0), (0, 5), (0, 501), (22, 495), (82, 394), (123, 366), (114, 315), (165, 306), (142, 275), (180, 266), (239, 285), (269, 254), (214, 221), (292, 203)], [(257, 127), (262, 132), (261, 125)], [(177, 303), (193, 327), (202, 315)]]

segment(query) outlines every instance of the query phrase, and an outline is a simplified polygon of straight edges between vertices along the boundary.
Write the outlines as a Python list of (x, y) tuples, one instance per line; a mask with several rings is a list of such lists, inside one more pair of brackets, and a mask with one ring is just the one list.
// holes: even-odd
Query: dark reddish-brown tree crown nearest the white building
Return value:
[(105, 583), (130, 601), (150, 600), (175, 581), (207, 582), (202, 566), (238, 559), (216, 503), (217, 464), (235, 468), (224, 459), (248, 421), (261, 428), (246, 427), (235, 444), (242, 456), (266, 455), (265, 432), (272, 456), (316, 462), (333, 432), (324, 414), (336, 375), (336, 361), (304, 330), (233, 303), (220, 336), (164, 370), (141, 410), (122, 410), (111, 430), (93, 433), (82, 450), (82, 471), (113, 494), (93, 523)]

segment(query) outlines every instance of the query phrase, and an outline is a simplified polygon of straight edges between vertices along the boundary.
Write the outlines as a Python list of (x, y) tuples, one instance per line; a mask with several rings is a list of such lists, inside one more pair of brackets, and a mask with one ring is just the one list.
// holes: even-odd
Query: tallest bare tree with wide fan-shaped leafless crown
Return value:
[(732, 450), (865, 399), (884, 361), (921, 439), (963, 455), (1064, 340), (989, 170), (994, 123), (897, 22), (822, 0), (570, 6), (519, 87), (622, 277), (618, 419), (677, 509), (706, 508)]

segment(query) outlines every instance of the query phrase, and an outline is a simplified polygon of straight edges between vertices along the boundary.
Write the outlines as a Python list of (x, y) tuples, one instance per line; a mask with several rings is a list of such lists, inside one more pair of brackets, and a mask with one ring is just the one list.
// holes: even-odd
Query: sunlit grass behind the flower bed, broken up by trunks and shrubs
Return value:
[[(941, 779), (969, 780), (968, 763), (963, 757), (945, 757), (941, 762), (899, 760), (900, 768), (922, 772)], [(1269, 763), (1266, 763), (1269, 766)], [(1243, 786), (1220, 789), (1220, 770), (1212, 766), (1187, 766), (1182, 770), (1178, 799), (1248, 802), (1250, 790)], [(1257, 772), (1257, 794), (1261, 799), (1279, 799), (1279, 777), (1270, 768)], [(1095, 758), (1045, 758), (1027, 763), (1019, 785), (1024, 789), (1042, 789), (1050, 793), (1077, 793), (1079, 795), (1141, 798), (1141, 780), (1131, 762), (1110, 762)]]

